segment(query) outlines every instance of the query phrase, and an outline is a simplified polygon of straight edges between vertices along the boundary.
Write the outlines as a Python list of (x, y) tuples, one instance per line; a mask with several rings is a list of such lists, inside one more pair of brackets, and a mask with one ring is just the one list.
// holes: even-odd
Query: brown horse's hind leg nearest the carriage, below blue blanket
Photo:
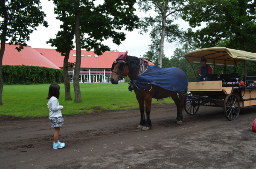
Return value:
[(179, 94), (179, 97), (175, 93), (175, 95), (172, 95), (172, 100), (175, 102), (175, 105), (177, 106), (177, 118), (176, 118), (177, 124), (182, 124), (182, 120), (183, 120), (182, 110), (183, 110), (185, 97), (183, 97), (181, 94)]

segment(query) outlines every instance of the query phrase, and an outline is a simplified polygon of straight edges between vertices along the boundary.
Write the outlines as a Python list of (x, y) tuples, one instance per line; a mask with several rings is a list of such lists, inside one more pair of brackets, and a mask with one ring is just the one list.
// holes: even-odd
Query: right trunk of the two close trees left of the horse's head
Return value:
[(75, 0), (75, 32), (76, 32), (76, 66), (74, 72), (74, 102), (80, 103), (81, 92), (79, 86), (79, 73), (81, 66), (81, 40), (80, 40), (80, 16), (79, 16), (79, 0)]

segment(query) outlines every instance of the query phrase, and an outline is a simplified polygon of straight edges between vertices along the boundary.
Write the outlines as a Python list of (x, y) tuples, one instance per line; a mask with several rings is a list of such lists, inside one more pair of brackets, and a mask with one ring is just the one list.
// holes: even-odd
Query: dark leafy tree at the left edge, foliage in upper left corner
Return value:
[(20, 52), (29, 35), (36, 30), (36, 27), (43, 24), (45, 27), (48, 23), (44, 20), (46, 14), (42, 11), (40, 0), (1, 0), (0, 1), (0, 105), (3, 94), (3, 54), (5, 43), (19, 45), (16, 47)]

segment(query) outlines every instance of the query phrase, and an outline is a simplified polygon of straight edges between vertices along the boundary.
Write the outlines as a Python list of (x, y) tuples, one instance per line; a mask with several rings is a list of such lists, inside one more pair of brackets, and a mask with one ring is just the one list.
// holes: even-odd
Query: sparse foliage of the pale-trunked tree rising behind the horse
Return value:
[(151, 37), (150, 52), (147, 55), (154, 56), (152, 60), (157, 59), (162, 65), (163, 44), (166, 41), (169, 43), (182, 41), (184, 32), (179, 29), (179, 24), (173, 23), (175, 19), (180, 17), (180, 11), (183, 9), (185, 0), (139, 0), (139, 9), (145, 13), (155, 11), (156, 16), (143, 17), (141, 20), (141, 34), (149, 33)]

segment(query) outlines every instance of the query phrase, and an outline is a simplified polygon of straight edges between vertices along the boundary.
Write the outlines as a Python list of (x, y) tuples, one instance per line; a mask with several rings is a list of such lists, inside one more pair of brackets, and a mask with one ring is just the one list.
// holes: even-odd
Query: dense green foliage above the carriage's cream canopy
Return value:
[(194, 34), (198, 48), (226, 39), (231, 49), (256, 52), (255, 0), (189, 0), (182, 18), (193, 28), (206, 23)]

